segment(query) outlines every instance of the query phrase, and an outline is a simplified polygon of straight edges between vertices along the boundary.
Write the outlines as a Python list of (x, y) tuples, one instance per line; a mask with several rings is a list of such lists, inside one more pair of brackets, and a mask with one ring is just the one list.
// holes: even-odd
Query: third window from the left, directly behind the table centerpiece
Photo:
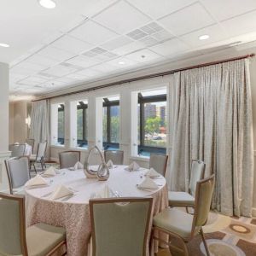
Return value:
[(119, 148), (119, 96), (103, 98), (102, 130), (104, 149)]

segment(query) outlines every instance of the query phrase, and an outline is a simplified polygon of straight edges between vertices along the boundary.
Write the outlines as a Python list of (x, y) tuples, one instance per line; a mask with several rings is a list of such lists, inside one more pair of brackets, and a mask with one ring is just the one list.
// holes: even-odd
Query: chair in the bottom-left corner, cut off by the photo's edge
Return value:
[(1, 255), (52, 255), (66, 247), (61, 227), (38, 223), (26, 228), (24, 195), (0, 193), (0, 212)]

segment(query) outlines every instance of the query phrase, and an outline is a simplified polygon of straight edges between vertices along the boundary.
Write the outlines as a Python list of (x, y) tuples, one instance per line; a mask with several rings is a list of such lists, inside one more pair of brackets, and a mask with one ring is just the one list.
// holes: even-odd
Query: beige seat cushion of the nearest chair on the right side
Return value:
[(184, 240), (191, 234), (192, 223), (192, 215), (173, 208), (166, 208), (155, 215), (153, 220), (155, 227), (177, 234)]

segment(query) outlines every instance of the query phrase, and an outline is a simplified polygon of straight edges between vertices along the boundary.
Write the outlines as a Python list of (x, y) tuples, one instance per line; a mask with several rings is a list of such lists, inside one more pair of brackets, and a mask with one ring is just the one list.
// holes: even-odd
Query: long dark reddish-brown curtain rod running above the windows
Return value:
[(255, 56), (255, 54), (252, 53), (250, 55), (241, 55), (241, 56), (238, 56), (238, 57), (235, 57), (235, 58), (224, 59), (224, 60), (221, 60), (221, 61), (212, 61), (212, 62), (202, 63), (202, 64), (195, 65), (195, 66), (172, 69), (172, 70), (162, 72), (162, 73), (153, 73), (153, 74), (144, 75), (144, 76), (140, 76), (140, 77), (133, 78), (133, 79), (123, 79), (123, 80), (119, 80), (117, 82), (113, 82), (113, 83), (109, 83), (109, 84), (102, 84), (102, 85), (98, 85), (96, 87), (90, 87), (90, 88), (83, 89), (83, 90), (67, 92), (67, 93), (63, 93), (61, 95), (57, 95), (57, 96), (44, 97), (44, 98), (41, 98), (41, 99), (38, 99), (38, 100), (33, 100), (32, 102), (38, 102), (38, 101), (42, 101), (42, 100), (49, 100), (49, 99), (53, 99), (53, 98), (57, 98), (57, 97), (61, 97), (61, 96), (70, 96), (70, 95), (73, 95), (73, 94), (79, 94), (79, 93), (87, 92), (87, 91), (90, 91), (90, 90), (99, 90), (99, 89), (111, 87), (111, 86), (114, 86), (114, 85), (131, 83), (131, 82), (136, 82), (136, 81), (145, 80), (145, 79), (154, 79), (154, 78), (157, 78), (157, 77), (163, 77), (163, 76), (170, 75), (172, 73), (176, 73), (176, 72), (180, 72), (180, 71), (185, 71), (185, 70), (199, 68), (199, 67), (207, 67), (207, 66), (211, 66), (211, 65), (217, 65), (217, 64), (225, 63), (225, 62), (229, 62), (229, 61), (237, 61), (237, 60), (241, 60), (241, 59), (247, 59), (247, 58), (251, 58), (251, 57), (254, 57), (254, 56)]

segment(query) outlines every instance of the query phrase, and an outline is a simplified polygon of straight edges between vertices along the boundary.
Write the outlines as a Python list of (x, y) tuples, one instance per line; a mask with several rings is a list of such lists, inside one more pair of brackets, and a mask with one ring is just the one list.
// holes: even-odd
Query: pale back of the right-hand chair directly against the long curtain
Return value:
[(195, 197), (196, 183), (205, 175), (206, 164), (201, 160), (192, 160), (189, 192)]

